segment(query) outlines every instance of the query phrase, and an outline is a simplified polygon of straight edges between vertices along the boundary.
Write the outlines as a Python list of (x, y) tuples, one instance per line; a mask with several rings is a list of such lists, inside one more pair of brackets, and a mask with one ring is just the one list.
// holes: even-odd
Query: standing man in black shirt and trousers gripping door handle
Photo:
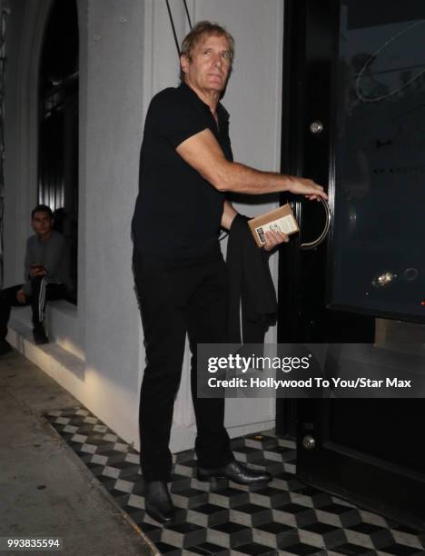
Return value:
[[(200, 22), (183, 40), (182, 84), (157, 94), (149, 107), (133, 215), (133, 271), (142, 314), (147, 366), (140, 402), (141, 463), (146, 511), (173, 519), (166, 481), (173, 402), (182, 372), (185, 335), (192, 357), (198, 479), (269, 481), (235, 462), (223, 426), (224, 400), (196, 396), (196, 345), (226, 343), (227, 269), (218, 241), (236, 212), (225, 192), (291, 191), (326, 197), (302, 178), (233, 163), (229, 114), (219, 102), (232, 68), (233, 39), (220, 25)], [(288, 241), (265, 234), (264, 248)]]

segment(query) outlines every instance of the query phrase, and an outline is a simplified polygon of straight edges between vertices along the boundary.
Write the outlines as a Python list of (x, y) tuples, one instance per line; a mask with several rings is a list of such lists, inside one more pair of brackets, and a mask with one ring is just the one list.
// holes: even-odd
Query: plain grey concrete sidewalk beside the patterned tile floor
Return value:
[(0, 537), (62, 537), (66, 556), (154, 554), (42, 417), (76, 405), (18, 352), (0, 358)]

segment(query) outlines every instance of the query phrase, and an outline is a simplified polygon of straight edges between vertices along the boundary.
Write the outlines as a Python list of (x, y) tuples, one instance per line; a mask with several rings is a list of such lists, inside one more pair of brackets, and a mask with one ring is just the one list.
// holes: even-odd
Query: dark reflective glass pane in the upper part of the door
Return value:
[(425, 319), (425, 4), (340, 24), (332, 303)]

